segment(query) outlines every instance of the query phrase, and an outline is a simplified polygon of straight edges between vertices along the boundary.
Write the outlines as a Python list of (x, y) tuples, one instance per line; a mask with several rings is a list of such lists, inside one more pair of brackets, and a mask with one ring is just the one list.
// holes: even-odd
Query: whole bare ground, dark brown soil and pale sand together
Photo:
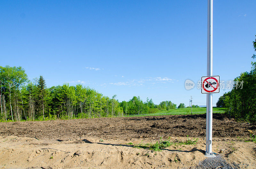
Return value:
[[(1, 168), (185, 168), (205, 159), (205, 114), (0, 123)], [(256, 125), (213, 114), (212, 150), (240, 168), (256, 168)], [(186, 137), (188, 136), (188, 137)], [(196, 144), (153, 151), (134, 144)], [(131, 145), (131, 143), (133, 145)], [(220, 168), (220, 167), (219, 167)]]

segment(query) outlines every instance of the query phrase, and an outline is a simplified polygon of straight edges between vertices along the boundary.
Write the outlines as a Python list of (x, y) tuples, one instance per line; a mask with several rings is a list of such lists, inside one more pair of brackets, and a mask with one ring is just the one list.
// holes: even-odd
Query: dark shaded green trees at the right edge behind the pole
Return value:
[[(253, 48), (256, 52), (256, 39), (253, 41)], [(253, 54), (252, 58), (255, 59), (256, 55)], [(252, 69), (249, 72), (241, 73), (239, 77), (234, 79), (232, 90), (224, 93), (216, 106), (226, 107), (226, 113), (230, 117), (256, 121), (256, 62), (251, 64)], [(241, 82), (243, 87), (240, 86)]]

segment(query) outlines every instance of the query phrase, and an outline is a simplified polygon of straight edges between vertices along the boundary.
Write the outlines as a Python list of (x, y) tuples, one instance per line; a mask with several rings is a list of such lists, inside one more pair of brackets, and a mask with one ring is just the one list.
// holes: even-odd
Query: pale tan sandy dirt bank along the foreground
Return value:
[[(185, 141), (186, 137), (171, 137)], [(191, 138), (192, 139), (192, 138)], [(159, 140), (97, 139), (57, 141), (29, 137), (0, 137), (1, 168), (185, 168), (198, 166), (205, 159), (205, 140), (191, 145), (171, 145), (162, 151), (136, 148), (132, 144), (156, 143)], [(256, 168), (253, 142), (236, 139), (213, 139), (213, 151), (241, 168)], [(217, 166), (218, 167), (218, 166)], [(193, 168), (193, 167), (192, 167)]]

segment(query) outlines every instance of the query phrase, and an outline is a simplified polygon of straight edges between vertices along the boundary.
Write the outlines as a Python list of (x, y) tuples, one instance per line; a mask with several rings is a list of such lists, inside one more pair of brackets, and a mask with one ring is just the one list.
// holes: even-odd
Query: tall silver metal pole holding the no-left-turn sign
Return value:
[[(207, 76), (212, 76), (212, 1), (208, 0), (207, 13)], [(208, 157), (215, 157), (212, 153), (212, 93), (207, 93), (206, 99), (206, 151)]]

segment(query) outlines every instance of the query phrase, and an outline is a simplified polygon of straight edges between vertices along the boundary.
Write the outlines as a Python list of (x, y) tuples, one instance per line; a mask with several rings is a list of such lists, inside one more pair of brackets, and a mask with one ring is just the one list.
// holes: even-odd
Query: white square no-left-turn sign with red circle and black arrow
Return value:
[(220, 76), (203, 76), (201, 90), (202, 93), (219, 93)]

